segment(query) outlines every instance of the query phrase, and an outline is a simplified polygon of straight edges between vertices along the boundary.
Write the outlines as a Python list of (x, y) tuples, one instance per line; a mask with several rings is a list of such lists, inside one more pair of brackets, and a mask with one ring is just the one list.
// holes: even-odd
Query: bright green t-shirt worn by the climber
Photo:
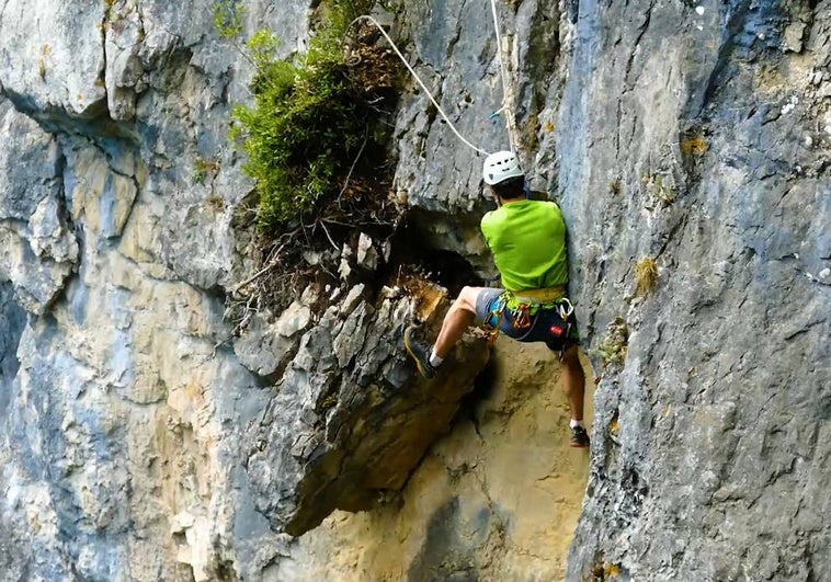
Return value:
[(566, 222), (553, 202), (520, 201), (486, 214), (482, 235), (509, 290), (568, 283)]

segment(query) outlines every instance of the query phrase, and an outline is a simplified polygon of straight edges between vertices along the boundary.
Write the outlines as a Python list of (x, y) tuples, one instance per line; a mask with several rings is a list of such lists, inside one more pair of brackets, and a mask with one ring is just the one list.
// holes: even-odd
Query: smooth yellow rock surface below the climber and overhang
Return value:
[(470, 413), (401, 494), (371, 512), (330, 516), (297, 541), (303, 568), (277, 579), (565, 579), (589, 453), (569, 447), (559, 363), (543, 344), (500, 338), (493, 362), (485, 373), (492, 385), (477, 388)]

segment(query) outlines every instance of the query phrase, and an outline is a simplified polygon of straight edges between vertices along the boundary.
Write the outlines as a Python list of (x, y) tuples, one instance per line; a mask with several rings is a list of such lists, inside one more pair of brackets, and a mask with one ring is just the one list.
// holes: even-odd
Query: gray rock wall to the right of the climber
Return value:
[[(829, 568), (828, 2), (580, 2), (560, 195), (604, 366), (569, 578)], [(636, 290), (636, 263), (658, 282)]]

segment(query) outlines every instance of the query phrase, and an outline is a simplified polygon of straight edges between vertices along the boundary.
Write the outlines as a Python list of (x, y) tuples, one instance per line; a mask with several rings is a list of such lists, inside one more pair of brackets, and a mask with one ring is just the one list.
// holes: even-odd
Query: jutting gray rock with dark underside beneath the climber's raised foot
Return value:
[(488, 360), (487, 342), (469, 339), (435, 379), (417, 380), (400, 345), (411, 299), (374, 307), (362, 289), (315, 318), (252, 436), (246, 467), (276, 530), (299, 536), (401, 489)]

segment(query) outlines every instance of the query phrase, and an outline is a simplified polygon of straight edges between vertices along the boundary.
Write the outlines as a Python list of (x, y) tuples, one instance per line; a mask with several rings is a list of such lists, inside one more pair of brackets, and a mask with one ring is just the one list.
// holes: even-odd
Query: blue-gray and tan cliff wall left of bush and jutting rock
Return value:
[[(307, 4), (247, 9), (306, 34)], [(0, 38), (3, 579), (255, 577), (239, 427), (267, 393), (218, 290), (252, 267), (251, 71), (197, 3), (8, 1)]]

